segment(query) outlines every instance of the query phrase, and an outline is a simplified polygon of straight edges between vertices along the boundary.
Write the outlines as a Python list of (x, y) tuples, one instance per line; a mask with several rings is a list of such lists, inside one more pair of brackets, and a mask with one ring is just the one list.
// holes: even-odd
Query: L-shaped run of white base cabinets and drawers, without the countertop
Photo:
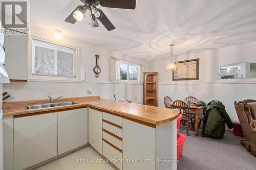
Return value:
[(176, 120), (151, 126), (96, 108), (5, 117), (4, 169), (57, 158), (88, 140), (121, 170), (177, 169), (176, 126)]

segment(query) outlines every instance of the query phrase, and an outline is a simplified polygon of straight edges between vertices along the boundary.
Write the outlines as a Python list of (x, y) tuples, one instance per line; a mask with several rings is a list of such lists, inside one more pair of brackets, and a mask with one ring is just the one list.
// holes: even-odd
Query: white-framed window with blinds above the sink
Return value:
[(32, 75), (77, 77), (77, 50), (32, 39)]

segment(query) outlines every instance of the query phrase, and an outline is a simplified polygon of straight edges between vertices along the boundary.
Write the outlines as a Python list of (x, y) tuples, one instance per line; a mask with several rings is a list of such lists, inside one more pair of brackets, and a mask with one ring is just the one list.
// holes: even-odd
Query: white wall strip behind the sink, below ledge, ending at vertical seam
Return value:
[(91, 90), (92, 95), (100, 95), (99, 83), (11, 82), (3, 87), (3, 91), (11, 95), (5, 102), (49, 99), (47, 95), (53, 98), (87, 96), (87, 90)]

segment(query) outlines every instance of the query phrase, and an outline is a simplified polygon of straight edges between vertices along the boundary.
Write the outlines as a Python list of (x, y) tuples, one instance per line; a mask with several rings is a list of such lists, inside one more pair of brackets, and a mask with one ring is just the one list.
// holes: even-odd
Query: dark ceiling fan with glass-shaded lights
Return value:
[(80, 0), (84, 5), (79, 5), (75, 10), (65, 19), (66, 22), (75, 23), (76, 21), (82, 21), (84, 13), (87, 10), (90, 11), (92, 28), (99, 27), (98, 19), (103, 26), (108, 30), (114, 30), (115, 27), (111, 21), (106, 17), (103, 11), (96, 6), (108, 8), (122, 8), (122, 9), (135, 9), (136, 0)]

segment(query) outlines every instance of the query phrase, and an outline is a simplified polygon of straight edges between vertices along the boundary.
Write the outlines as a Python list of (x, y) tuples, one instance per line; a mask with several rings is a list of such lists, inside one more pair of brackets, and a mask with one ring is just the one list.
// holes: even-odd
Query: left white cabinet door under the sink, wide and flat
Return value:
[(14, 170), (57, 156), (57, 121), (57, 113), (14, 118)]

